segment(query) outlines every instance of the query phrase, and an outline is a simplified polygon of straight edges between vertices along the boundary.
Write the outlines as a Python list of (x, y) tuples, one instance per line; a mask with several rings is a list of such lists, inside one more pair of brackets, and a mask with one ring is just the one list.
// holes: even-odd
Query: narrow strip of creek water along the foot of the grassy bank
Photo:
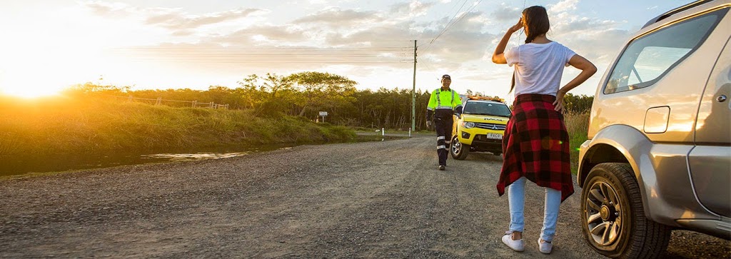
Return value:
[(26, 173), (60, 172), (118, 165), (140, 165), (151, 162), (194, 161), (239, 157), (260, 151), (289, 149), (290, 145), (222, 146), (207, 149), (159, 149), (146, 151), (109, 151), (91, 154), (50, 154), (0, 156), (0, 176)]

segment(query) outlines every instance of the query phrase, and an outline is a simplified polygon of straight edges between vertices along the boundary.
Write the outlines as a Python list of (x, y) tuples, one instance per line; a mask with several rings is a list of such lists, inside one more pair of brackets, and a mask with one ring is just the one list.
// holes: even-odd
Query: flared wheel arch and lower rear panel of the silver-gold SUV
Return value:
[[(602, 149), (616, 149), (635, 171), (642, 193), (645, 216), (655, 222), (678, 226), (675, 219), (718, 219), (697, 202), (693, 193), (686, 164), (693, 146), (651, 143), (643, 132), (627, 125), (613, 125), (587, 140), (580, 147), (579, 184), (583, 184), (591, 168), (602, 159)], [(618, 161), (613, 161), (618, 162)], [(686, 188), (678, 188), (686, 186)], [(701, 213), (694, 212), (701, 211)]]

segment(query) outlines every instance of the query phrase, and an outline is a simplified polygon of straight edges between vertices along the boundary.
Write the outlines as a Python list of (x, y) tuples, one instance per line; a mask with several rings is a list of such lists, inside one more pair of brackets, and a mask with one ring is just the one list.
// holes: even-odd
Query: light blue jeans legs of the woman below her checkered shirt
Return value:
[[(545, 187), (545, 208), (543, 209), (543, 228), (541, 239), (553, 241), (558, 221), (558, 206), (561, 205), (561, 191)], [(523, 232), (526, 224), (523, 217), (523, 206), (526, 202), (526, 178), (514, 181), (507, 189), (507, 200), (510, 204), (510, 231)]]

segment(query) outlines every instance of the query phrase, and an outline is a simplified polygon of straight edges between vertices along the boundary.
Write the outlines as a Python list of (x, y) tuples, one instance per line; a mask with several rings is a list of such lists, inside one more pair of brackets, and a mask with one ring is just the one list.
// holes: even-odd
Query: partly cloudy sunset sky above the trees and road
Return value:
[[(491, 56), (525, 7), (599, 79), (647, 20), (691, 0), (11, 0), (0, 1), (0, 93), (36, 97), (77, 83), (140, 89), (239, 87), (248, 75), (317, 71), (357, 89), (439, 87), (509, 99), (512, 67)], [(508, 48), (525, 40), (512, 35)], [(578, 70), (567, 68), (562, 83)]]

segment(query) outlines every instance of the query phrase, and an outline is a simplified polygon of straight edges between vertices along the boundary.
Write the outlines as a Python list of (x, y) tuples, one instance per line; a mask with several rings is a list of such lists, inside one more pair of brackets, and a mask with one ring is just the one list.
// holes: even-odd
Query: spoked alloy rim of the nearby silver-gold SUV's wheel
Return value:
[(596, 244), (608, 246), (619, 239), (622, 229), (621, 205), (617, 191), (598, 181), (589, 187), (586, 198), (586, 225)]

